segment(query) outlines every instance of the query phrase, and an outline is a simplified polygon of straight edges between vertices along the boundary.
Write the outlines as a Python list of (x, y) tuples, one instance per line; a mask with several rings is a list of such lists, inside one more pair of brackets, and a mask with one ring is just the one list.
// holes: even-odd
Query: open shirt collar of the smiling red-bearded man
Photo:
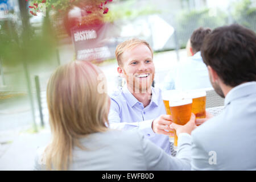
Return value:
[[(137, 102), (139, 102), (137, 100), (137, 98), (135, 98), (133, 96), (133, 94), (131, 94), (131, 92), (129, 91), (129, 89), (127, 88), (127, 84), (125, 84), (122, 88), (123, 90), (123, 96), (125, 97), (126, 99), (126, 102), (129, 103), (129, 105), (131, 107), (133, 107), (135, 104), (137, 104)], [(150, 106), (152, 103), (154, 103), (156, 106), (159, 105), (158, 103), (158, 96), (159, 96), (159, 92), (157, 92), (154, 87), (151, 86), (151, 93), (152, 93), (152, 96), (151, 96), (151, 101), (150, 101), (150, 104), (148, 104), (148, 106)]]

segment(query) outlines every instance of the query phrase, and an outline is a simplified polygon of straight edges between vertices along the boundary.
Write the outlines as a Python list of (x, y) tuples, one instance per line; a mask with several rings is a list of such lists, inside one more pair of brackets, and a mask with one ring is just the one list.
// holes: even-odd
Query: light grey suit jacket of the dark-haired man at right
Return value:
[(225, 109), (192, 132), (192, 169), (256, 170), (256, 82), (230, 90)]

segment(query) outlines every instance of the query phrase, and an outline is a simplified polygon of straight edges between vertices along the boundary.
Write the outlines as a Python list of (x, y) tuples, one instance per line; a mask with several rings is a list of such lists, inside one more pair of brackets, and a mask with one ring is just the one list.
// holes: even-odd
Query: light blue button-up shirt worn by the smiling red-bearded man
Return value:
[(112, 129), (140, 130), (145, 138), (171, 154), (169, 137), (156, 134), (152, 130), (152, 121), (166, 114), (160, 89), (151, 87), (152, 97), (146, 107), (127, 89), (127, 85), (110, 95), (109, 125)]

